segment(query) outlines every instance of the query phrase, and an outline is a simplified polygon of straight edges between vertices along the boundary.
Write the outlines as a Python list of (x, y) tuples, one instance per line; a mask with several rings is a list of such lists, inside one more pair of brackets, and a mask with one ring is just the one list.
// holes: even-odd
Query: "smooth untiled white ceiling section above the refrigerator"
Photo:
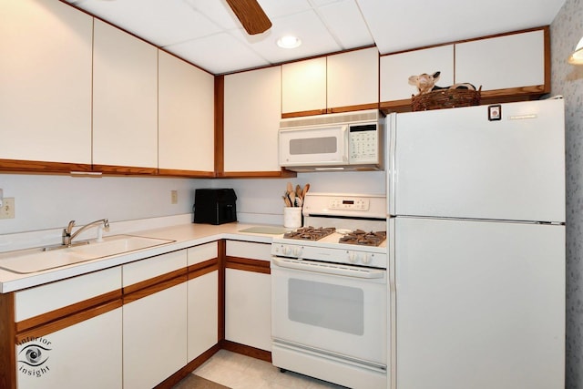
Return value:
[(550, 25), (565, 0), (356, 0), (381, 54)]

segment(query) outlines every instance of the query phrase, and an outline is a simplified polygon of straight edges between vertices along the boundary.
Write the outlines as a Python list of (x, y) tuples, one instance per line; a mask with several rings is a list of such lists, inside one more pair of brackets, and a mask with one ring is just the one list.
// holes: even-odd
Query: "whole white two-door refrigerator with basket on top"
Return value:
[(391, 387), (564, 388), (563, 100), (388, 121)]

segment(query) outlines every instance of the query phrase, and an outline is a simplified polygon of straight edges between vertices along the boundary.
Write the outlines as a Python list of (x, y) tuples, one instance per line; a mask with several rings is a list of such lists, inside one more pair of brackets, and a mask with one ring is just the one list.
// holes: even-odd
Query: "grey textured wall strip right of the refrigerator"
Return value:
[(567, 0), (550, 27), (551, 86), (565, 97), (567, 389), (583, 388), (583, 67), (567, 63), (583, 36), (583, 1)]

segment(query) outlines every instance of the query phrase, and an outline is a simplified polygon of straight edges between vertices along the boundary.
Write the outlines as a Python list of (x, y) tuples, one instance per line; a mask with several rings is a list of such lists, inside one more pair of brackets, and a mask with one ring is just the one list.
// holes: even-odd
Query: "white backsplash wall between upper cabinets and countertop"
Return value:
[[(238, 218), (281, 224), (286, 183), (312, 191), (384, 194), (385, 172), (302, 173), (296, 179), (163, 179), (0, 174), (5, 198), (15, 198), (15, 219), (0, 220), (1, 234), (62, 229), (107, 218), (111, 222), (190, 213), (197, 188), (233, 188)], [(170, 204), (178, 190), (178, 204)]]

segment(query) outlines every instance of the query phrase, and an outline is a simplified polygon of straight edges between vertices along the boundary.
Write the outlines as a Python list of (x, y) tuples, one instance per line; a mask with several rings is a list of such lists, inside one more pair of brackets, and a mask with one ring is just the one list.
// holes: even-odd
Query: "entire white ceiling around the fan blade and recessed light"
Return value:
[[(50, 0), (59, 1), (59, 0)], [(565, 0), (258, 0), (249, 36), (225, 0), (61, 0), (213, 74), (376, 45), (381, 54), (550, 25)], [(302, 46), (282, 49), (292, 34)]]

